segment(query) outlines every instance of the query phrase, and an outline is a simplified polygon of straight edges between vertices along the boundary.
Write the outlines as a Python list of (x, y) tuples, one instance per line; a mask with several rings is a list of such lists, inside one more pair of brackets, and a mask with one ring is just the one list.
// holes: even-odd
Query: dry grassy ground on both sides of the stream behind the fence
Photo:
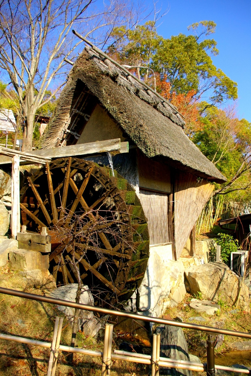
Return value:
[[(27, 291), (44, 295), (49, 291), (42, 291), (35, 288), (26, 287), (23, 278), (17, 273), (10, 271), (8, 266), (0, 268), (0, 286), (12, 288), (14, 290)], [(186, 322), (190, 317), (202, 316), (207, 326), (217, 326), (236, 331), (251, 331), (251, 314), (248, 312), (237, 312), (231, 314), (233, 307), (228, 307), (223, 301), (218, 302), (221, 306), (220, 312), (213, 316), (198, 314), (191, 309), (188, 304), (191, 296), (187, 294), (182, 303), (175, 308), (167, 309), (166, 314), (172, 318), (182, 317)], [(185, 306), (184, 306), (185, 305)], [(4, 334), (19, 335), (31, 339), (37, 338), (41, 341), (51, 341), (54, 328), (55, 317), (60, 316), (60, 312), (47, 303), (34, 302), (32, 300), (12, 297), (0, 294), (0, 332)], [(194, 323), (198, 323), (193, 321)], [(187, 338), (189, 352), (200, 356), (204, 361), (205, 347), (201, 343), (206, 340), (207, 334), (197, 331), (184, 330)], [(136, 334), (137, 335), (137, 334)], [(115, 332), (113, 348), (118, 348), (118, 338), (121, 333)], [(132, 341), (135, 333), (124, 333), (123, 337), (129, 337)], [(61, 344), (70, 344), (71, 328), (69, 322), (64, 320)], [(216, 350), (216, 357), (227, 354), (232, 349), (232, 343), (239, 341), (236, 337), (225, 337), (222, 346)], [(137, 342), (135, 340), (135, 342)], [(87, 338), (83, 333), (77, 334), (76, 345), (86, 347), (91, 350), (103, 350), (103, 342), (100, 339)], [(148, 346), (150, 341), (148, 341)], [(82, 376), (101, 374), (101, 359), (90, 356), (74, 354), (73, 363), (68, 362), (69, 355), (60, 353), (57, 365), (57, 376)], [(49, 349), (30, 345), (18, 344), (12, 341), (0, 340), (0, 376), (40, 376), (47, 374), (47, 364), (49, 360)], [(220, 363), (218, 363), (220, 364)], [(111, 376), (138, 376), (147, 375), (148, 366), (137, 365), (122, 361), (113, 361)]]

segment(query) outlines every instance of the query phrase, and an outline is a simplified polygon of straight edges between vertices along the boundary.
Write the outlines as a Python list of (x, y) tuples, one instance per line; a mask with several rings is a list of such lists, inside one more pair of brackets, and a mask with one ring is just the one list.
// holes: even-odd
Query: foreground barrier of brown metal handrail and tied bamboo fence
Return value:
[(212, 333), (214, 333), (214, 334), (225, 334), (225, 335), (231, 335), (234, 337), (251, 339), (250, 333), (231, 331), (228, 329), (220, 329), (220, 328), (210, 327), (210, 326), (205, 326), (205, 325), (183, 323), (179, 321), (172, 321), (172, 320), (167, 320), (167, 319), (158, 318), (158, 317), (148, 317), (148, 316), (144, 316), (140, 314), (135, 314), (132, 312), (116, 311), (115, 309), (108, 309), (108, 308), (91, 306), (87, 304), (75, 303), (75, 302), (70, 302), (68, 300), (55, 299), (55, 298), (41, 296), (37, 294), (25, 293), (23, 291), (11, 290), (8, 288), (3, 288), (3, 287), (0, 287), (0, 293), (17, 296), (17, 297), (21, 297), (25, 299), (36, 300), (36, 301), (44, 302), (44, 303), (61, 305), (61, 306), (66, 306), (66, 307), (71, 307), (71, 308), (78, 308), (78, 309), (82, 309), (85, 311), (99, 312), (101, 314), (132, 318), (133, 320), (152, 322), (156, 324), (165, 324), (165, 325), (171, 325), (171, 326), (182, 327), (182, 328), (187, 328), (187, 329), (195, 329), (198, 331), (204, 331), (208, 333), (207, 363), (205, 364), (160, 357), (160, 334), (153, 334), (152, 355), (130, 353), (130, 352), (121, 351), (121, 350), (114, 350), (114, 352), (112, 353), (112, 335), (113, 335), (112, 324), (106, 324), (103, 352), (93, 351), (93, 350), (88, 350), (88, 349), (80, 349), (78, 347), (60, 345), (63, 318), (59, 318), (59, 317), (57, 317), (55, 321), (52, 343), (42, 342), (42, 341), (37, 341), (37, 340), (30, 340), (28, 338), (17, 337), (13, 335), (0, 334), (0, 339), (16, 341), (20, 343), (25, 343), (25, 344), (30, 344), (34, 346), (40, 346), (40, 347), (51, 349), (47, 376), (55, 375), (59, 350), (66, 351), (66, 352), (80, 353), (83, 355), (101, 357), (102, 358), (101, 376), (110, 376), (110, 367), (111, 367), (112, 359), (152, 365), (152, 376), (159, 376), (159, 367), (181, 368), (181, 369), (187, 369), (187, 370), (198, 371), (198, 372), (205, 371), (207, 372), (208, 376), (214, 376), (217, 369), (231, 371), (231, 372), (251, 374), (249, 369), (215, 365), (214, 364), (214, 339), (212, 336)]

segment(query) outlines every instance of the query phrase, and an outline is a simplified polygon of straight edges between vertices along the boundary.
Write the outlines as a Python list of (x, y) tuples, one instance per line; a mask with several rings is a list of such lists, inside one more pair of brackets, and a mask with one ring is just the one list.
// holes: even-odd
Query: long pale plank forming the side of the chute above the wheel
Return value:
[[(127, 142), (128, 144), (128, 142)], [(73, 157), (77, 155), (89, 155), (96, 153), (113, 152), (121, 149), (120, 138), (105, 141), (95, 141), (86, 144), (77, 144), (69, 146), (54, 147), (52, 149), (34, 150), (31, 153), (43, 158), (62, 158)], [(126, 145), (123, 145), (126, 150)], [(127, 151), (128, 153), (128, 151)]]

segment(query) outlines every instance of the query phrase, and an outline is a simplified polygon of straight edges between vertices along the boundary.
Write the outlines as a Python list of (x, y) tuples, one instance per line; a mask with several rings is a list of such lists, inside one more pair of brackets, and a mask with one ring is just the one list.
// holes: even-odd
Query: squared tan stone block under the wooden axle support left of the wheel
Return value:
[(40, 252), (12, 249), (9, 252), (9, 264), (13, 270), (31, 271), (49, 269), (49, 255)]

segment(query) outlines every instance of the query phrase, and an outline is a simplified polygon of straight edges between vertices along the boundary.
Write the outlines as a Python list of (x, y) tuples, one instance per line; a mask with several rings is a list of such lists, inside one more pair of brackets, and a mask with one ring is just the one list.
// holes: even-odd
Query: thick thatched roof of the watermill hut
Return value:
[[(75, 62), (58, 100), (42, 148), (58, 146), (69, 132), (73, 103), (83, 90), (107, 110), (148, 158), (161, 158), (170, 165), (216, 182), (226, 181), (183, 131), (184, 120), (164, 98), (133, 79), (132, 76), (86, 47)], [(68, 128), (68, 130), (67, 130)], [(74, 127), (70, 128), (74, 131)], [(73, 132), (74, 133), (74, 132)]]

